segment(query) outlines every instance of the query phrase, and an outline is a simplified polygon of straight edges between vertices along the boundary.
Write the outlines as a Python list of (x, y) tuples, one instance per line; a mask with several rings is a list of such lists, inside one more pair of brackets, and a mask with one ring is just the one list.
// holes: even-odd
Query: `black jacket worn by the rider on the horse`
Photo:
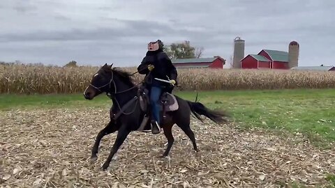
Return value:
[[(147, 68), (150, 64), (155, 66), (154, 70), (151, 70), (151, 72)], [(174, 81), (177, 82), (177, 70), (168, 55), (161, 49), (148, 51), (141, 64), (137, 67), (137, 71), (140, 74), (147, 76), (145, 82), (149, 86), (170, 86), (170, 84), (158, 81), (154, 78), (165, 80), (174, 79)]]

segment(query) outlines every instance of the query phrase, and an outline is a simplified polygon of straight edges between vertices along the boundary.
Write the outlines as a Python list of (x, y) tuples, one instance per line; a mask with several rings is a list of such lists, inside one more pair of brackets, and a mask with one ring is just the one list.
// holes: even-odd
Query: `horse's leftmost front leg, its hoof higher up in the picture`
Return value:
[(103, 139), (103, 136), (111, 134), (116, 131), (117, 131), (117, 125), (115, 124), (114, 120), (110, 120), (110, 123), (108, 123), (108, 125), (98, 133), (98, 135), (96, 136), (96, 141), (92, 148), (91, 162), (95, 162), (96, 159), (98, 159), (98, 156), (96, 154), (98, 154), (99, 144), (101, 142), (101, 139)]

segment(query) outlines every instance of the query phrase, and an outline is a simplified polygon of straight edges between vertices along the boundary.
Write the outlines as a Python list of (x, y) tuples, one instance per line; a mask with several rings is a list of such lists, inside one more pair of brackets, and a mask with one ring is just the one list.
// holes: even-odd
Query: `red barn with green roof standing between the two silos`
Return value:
[(249, 54), (243, 58), (241, 68), (289, 69), (288, 52), (262, 49), (257, 55)]

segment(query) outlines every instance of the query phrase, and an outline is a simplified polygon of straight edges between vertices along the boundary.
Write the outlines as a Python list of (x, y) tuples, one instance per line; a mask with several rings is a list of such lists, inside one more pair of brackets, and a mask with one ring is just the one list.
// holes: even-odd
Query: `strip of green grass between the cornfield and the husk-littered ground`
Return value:
[[(195, 92), (175, 92), (195, 100)], [(200, 102), (210, 109), (226, 109), (242, 127), (262, 127), (303, 133), (315, 143), (335, 141), (335, 89), (278, 91), (202, 91)], [(0, 110), (41, 108), (109, 108), (112, 102), (101, 95), (84, 100), (77, 95), (0, 95)], [(327, 143), (323, 144), (327, 146)]]

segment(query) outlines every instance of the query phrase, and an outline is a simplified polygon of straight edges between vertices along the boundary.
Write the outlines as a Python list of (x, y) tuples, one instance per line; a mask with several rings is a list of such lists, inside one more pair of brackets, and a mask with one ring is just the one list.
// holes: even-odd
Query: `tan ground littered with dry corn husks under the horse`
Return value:
[(0, 112), (0, 187), (325, 187), (335, 172), (335, 149), (318, 150), (303, 135), (198, 120), (200, 152), (177, 126), (166, 158), (163, 133), (132, 132), (101, 171), (116, 133), (101, 141), (96, 163), (89, 157), (108, 118), (108, 109)]

